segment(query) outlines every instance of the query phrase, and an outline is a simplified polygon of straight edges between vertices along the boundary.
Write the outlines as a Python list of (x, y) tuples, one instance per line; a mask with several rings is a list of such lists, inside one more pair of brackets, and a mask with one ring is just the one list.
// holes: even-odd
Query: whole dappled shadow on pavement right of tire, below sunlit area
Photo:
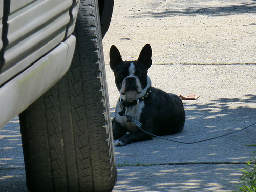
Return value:
[[(237, 131), (255, 123), (256, 95), (218, 98), (202, 104), (184, 101), (184, 131), (165, 138), (193, 142)], [(256, 125), (227, 137), (197, 144), (160, 138), (115, 147), (118, 191), (232, 191), (252, 157)], [(255, 151), (255, 150), (254, 150)], [(123, 163), (122, 163), (123, 162)]]

